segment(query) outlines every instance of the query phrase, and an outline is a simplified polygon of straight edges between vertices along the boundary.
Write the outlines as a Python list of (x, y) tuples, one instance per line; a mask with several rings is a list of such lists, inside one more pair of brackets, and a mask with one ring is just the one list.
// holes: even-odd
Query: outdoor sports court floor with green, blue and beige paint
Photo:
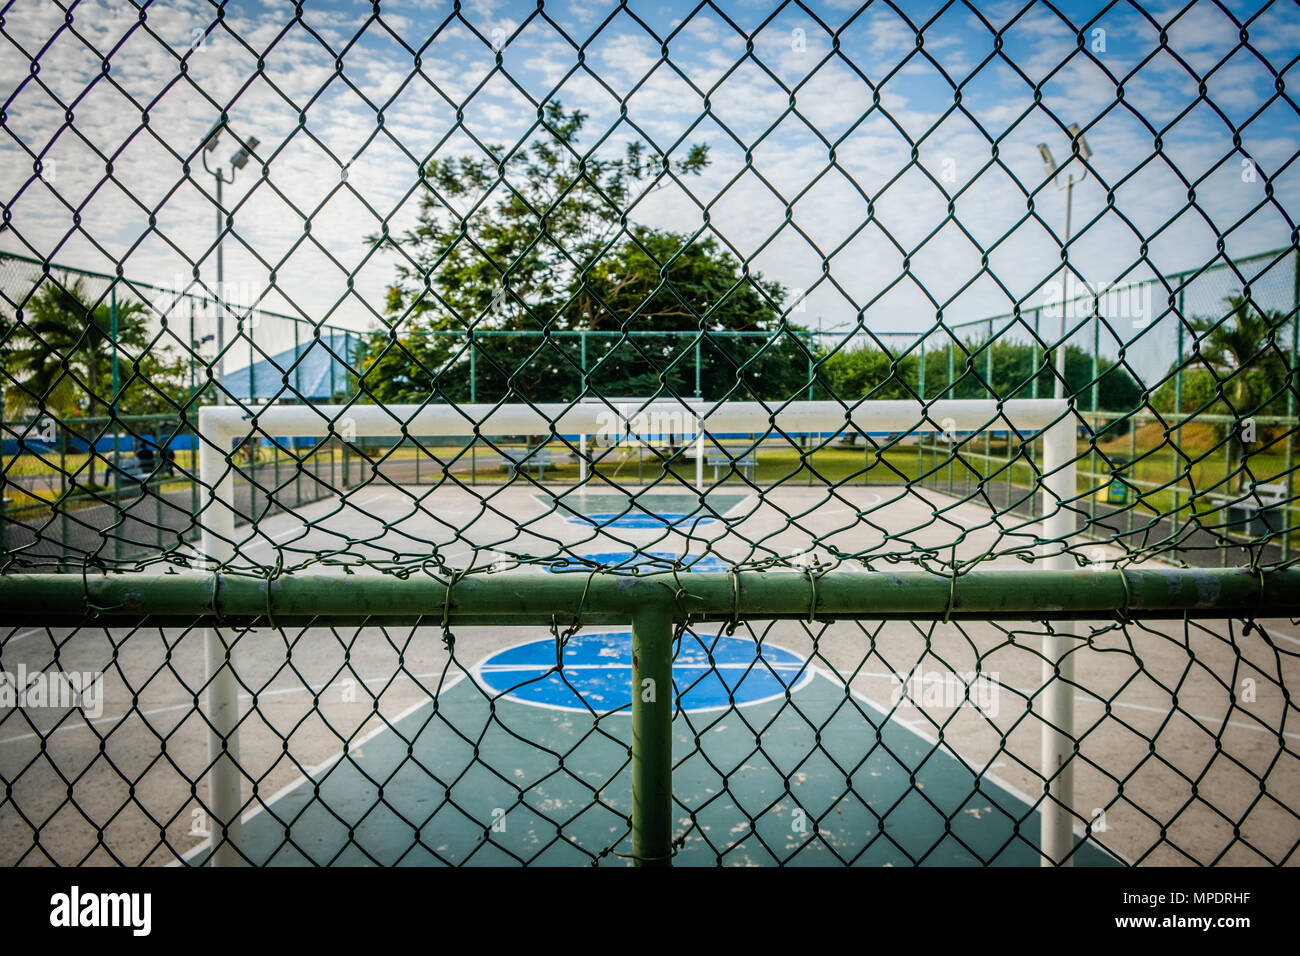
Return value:
[[(552, 496), (567, 506), (551, 507)], [(454, 486), (363, 489), (266, 519), (239, 553), (269, 563), (282, 549), (291, 564), (346, 538), (365, 542), (351, 554), (399, 555), (411, 541), (437, 540), (436, 516), (464, 514), (469, 498)], [(693, 574), (749, 559), (753, 542), (811, 563), (831, 561), (814, 542), (831, 548), (850, 536), (859, 551), (898, 541), (926, 548), (942, 540), (927, 538), (940, 535), (936, 512), (1005, 533), (987, 509), (889, 485), (762, 498), (727, 488), (707, 515), (690, 515), (688, 498), (649, 489), (640, 505), (603, 494), (584, 507), (572, 490), (504, 486), (459, 536), (439, 541), (441, 553), (546, 557), (552, 575), (588, 575), (597, 563), (641, 574), (677, 563)], [(863, 541), (866, 533), (874, 537)], [(988, 545), (976, 531), (968, 546)], [(436, 623), (229, 635), (238, 636), (239, 763), (248, 775), (240, 852), (272, 865), (628, 862), (619, 855), (629, 853), (630, 632), (595, 626), (568, 635), (569, 622), (558, 623), (458, 627), (450, 646)], [(1234, 705), (1219, 676), (1235, 666), (1261, 691), (1295, 678), (1295, 626), (1258, 623), (1251, 635), (1218, 622), (1186, 632), (1179, 622), (1150, 622), (1136, 633), (1114, 622), (1079, 624), (1092, 640), (1076, 663), (1086, 676), (1074, 695), (1083, 731), (1075, 806), (1088, 819), (1104, 813), (1087, 839), (1076, 821), (1076, 865), (1204, 862), (1225, 848), (1225, 861), (1286, 855), (1300, 765), (1295, 734), (1284, 731), (1279, 761), (1269, 731), (1286, 705), (1266, 692)], [(685, 836), (675, 862), (1036, 865), (1041, 723), (1031, 700), (1041, 685), (1041, 624), (785, 620), (727, 631), (692, 627), (675, 644), (673, 813), (675, 835)], [(91, 724), (112, 731), (110, 762), (77, 719), (51, 737), (84, 774), (77, 804), (112, 805), (122, 787), (114, 767), (139, 773), (150, 799), (114, 817), (105, 831), (113, 853), (168, 862), (152, 818), (166, 822), (176, 856), (203, 862), (205, 814), (186, 793), (186, 778), (202, 779), (208, 760), (207, 728), (186, 691), (205, 679), (202, 632), (29, 632), (6, 641), (6, 667), (42, 666), (52, 641), (65, 667), (86, 670), (104, 667), (116, 644), (121, 669), (118, 679), (110, 671), (103, 717)], [(127, 685), (142, 688), (134, 711)], [(161, 740), (176, 769), (159, 762)], [(0, 743), (6, 774), (40, 747), (32, 732)], [(1268, 775), (1262, 795), (1253, 774)], [(1192, 780), (1197, 796), (1188, 800)], [(22, 805), (53, 812), (60, 799), (49, 783), (23, 775)], [(70, 810), (53, 814), (42, 844), (60, 858), (100, 858), (94, 832)], [(1235, 814), (1257, 851), (1234, 840)], [(1166, 840), (1158, 821), (1170, 821)], [(10, 817), (8, 826), (22, 825)]]

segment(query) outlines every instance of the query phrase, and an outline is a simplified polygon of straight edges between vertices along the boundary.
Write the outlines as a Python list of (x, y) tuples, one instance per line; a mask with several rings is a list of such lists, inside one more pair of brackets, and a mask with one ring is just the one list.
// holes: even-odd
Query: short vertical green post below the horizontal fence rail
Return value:
[(672, 865), (672, 614), (660, 602), (632, 618), (632, 853)]

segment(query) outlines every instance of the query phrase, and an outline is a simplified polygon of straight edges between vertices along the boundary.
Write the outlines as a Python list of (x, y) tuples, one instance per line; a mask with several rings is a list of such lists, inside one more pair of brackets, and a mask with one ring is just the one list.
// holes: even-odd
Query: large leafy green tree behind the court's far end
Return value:
[[(711, 398), (805, 385), (807, 350), (781, 321), (780, 284), (715, 239), (628, 221), (642, 195), (705, 169), (707, 148), (670, 161), (633, 142), (597, 159), (578, 148), (581, 112), (552, 103), (545, 118), (546, 134), (508, 153), (503, 173), (488, 157), (426, 165), (417, 225), (385, 239), (398, 281), (390, 328), (361, 356), (361, 390), (382, 402), (560, 401), (584, 385), (694, 394), (697, 360)], [(555, 334), (584, 332), (585, 342)], [(736, 332), (764, 334), (716, 334)]]

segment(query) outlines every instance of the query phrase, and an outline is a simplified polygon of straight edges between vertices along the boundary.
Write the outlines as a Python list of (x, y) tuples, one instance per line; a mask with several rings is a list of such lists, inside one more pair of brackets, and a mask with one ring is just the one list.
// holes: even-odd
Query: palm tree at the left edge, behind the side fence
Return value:
[[(48, 282), (23, 307), (22, 317), (5, 323), (4, 365), (17, 388), (6, 389), (8, 415), (32, 405), (60, 418), (108, 414), (113, 399), (114, 350), (120, 364), (148, 345), (146, 307), (121, 303), (114, 317), (107, 302), (91, 304), (84, 281)], [(114, 329), (116, 324), (116, 329)], [(90, 484), (95, 455), (90, 455)]]

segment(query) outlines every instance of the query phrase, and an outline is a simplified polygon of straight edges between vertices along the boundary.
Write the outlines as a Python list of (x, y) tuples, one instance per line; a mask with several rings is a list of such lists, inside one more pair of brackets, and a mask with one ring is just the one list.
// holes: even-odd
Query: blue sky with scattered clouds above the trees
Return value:
[[(240, 1), (218, 22), (212, 4), (177, 0), (150, 5), (142, 25), (133, 5), (104, 0), (73, 7), (68, 29), (48, 0), (17, 0), (0, 36), (0, 196), (12, 217), (0, 248), (121, 264), (162, 285), (188, 280), (188, 258), (212, 281), (212, 179), (202, 168), (187, 178), (182, 163), (225, 107), (234, 130), (261, 140), (269, 172), (248, 166), (228, 187), (228, 281), (361, 328), (393, 278), (393, 260), (367, 260), (361, 238), (381, 220), (411, 224), (419, 161), (536, 135), (549, 99), (590, 113), (586, 146), (610, 130), (610, 151), (632, 137), (675, 151), (707, 143), (712, 165), (686, 183), (693, 196), (667, 183), (632, 217), (694, 233), (707, 209), (712, 234), (751, 268), (792, 297), (809, 290), (796, 319), (823, 328), (853, 325), (862, 310), (875, 329), (923, 329), (936, 302), (946, 321), (1040, 304), (1060, 265), (1063, 194), (1046, 185), (1041, 221), (1026, 219), (1017, 179), (1044, 186), (1036, 143), (1065, 161), (1069, 122), (1086, 126), (1095, 152), (1075, 189), (1070, 255), (1089, 284), (1152, 274), (1143, 243), (1161, 272), (1213, 259), (1218, 233), (1230, 255), (1290, 243), (1300, 116), (1275, 98), (1275, 74), (1291, 86), (1300, 75), (1294, 4), (1225, 3), (1251, 21), (1249, 48), (1210, 3), (976, 7), (586, 0), (547, 3), (545, 17), (534, 3), (465, 3), (456, 17), (450, 0), (407, 0), (374, 17), (369, 3), (339, 1), (306, 4), (294, 22), (289, 4)], [(30, 57), (43, 48), (38, 83)], [(1124, 78), (1122, 103), (1113, 77)], [(619, 122), (624, 105), (640, 133)], [(914, 144), (937, 183), (911, 165)], [(228, 138), (218, 155), (233, 148)], [(53, 160), (53, 190), (32, 181), (29, 151)], [(55, 190), (79, 208), (79, 228)], [(962, 228), (948, 220), (949, 196)]]

